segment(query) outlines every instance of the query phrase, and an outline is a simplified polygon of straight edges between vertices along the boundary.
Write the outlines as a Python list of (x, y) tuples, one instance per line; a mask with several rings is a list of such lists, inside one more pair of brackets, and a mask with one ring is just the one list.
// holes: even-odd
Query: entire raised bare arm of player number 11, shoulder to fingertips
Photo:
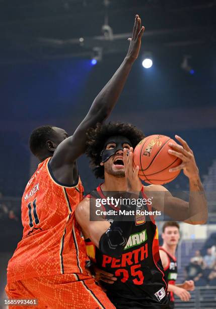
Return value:
[(95, 98), (88, 114), (73, 136), (62, 141), (54, 151), (50, 167), (54, 177), (61, 183), (73, 185), (78, 179), (76, 160), (86, 149), (86, 131), (102, 123), (111, 113), (127, 80), (133, 62), (138, 57), (141, 36), (144, 32), (136, 15), (129, 49), (122, 64)]

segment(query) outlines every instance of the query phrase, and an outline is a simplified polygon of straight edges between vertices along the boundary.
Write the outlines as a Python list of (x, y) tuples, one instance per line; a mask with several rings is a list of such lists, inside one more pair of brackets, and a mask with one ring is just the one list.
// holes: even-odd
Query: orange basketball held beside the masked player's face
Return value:
[(180, 171), (169, 172), (182, 163), (182, 161), (170, 155), (168, 144), (175, 140), (165, 135), (150, 135), (142, 139), (133, 152), (133, 166), (139, 166), (138, 176), (150, 184), (165, 184), (174, 180)]

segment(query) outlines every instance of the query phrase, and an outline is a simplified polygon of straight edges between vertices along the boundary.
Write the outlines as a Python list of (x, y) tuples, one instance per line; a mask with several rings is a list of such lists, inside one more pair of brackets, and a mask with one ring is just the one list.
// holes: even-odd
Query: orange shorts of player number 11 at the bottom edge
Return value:
[(16, 306), (13, 309), (114, 309), (106, 293), (95, 284), (93, 278), (76, 274), (64, 274), (30, 278), (8, 283), (9, 299), (38, 299), (38, 305)]

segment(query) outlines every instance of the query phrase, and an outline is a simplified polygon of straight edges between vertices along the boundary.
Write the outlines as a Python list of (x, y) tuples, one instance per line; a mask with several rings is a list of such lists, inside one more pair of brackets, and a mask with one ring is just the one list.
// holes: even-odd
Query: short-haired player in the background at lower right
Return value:
[(176, 248), (180, 239), (179, 224), (177, 222), (166, 222), (162, 228), (163, 245), (160, 247), (160, 257), (164, 268), (165, 277), (168, 281), (170, 309), (174, 308), (174, 295), (176, 294), (183, 301), (189, 301), (190, 293), (194, 290), (193, 280), (187, 280), (181, 284), (175, 284), (177, 279)]

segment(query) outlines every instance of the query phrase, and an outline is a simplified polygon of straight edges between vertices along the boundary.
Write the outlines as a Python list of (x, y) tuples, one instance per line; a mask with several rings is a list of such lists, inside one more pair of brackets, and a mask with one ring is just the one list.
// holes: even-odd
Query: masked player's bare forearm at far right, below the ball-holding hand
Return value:
[(208, 217), (207, 200), (199, 176), (189, 178), (189, 222), (190, 224), (205, 224)]

